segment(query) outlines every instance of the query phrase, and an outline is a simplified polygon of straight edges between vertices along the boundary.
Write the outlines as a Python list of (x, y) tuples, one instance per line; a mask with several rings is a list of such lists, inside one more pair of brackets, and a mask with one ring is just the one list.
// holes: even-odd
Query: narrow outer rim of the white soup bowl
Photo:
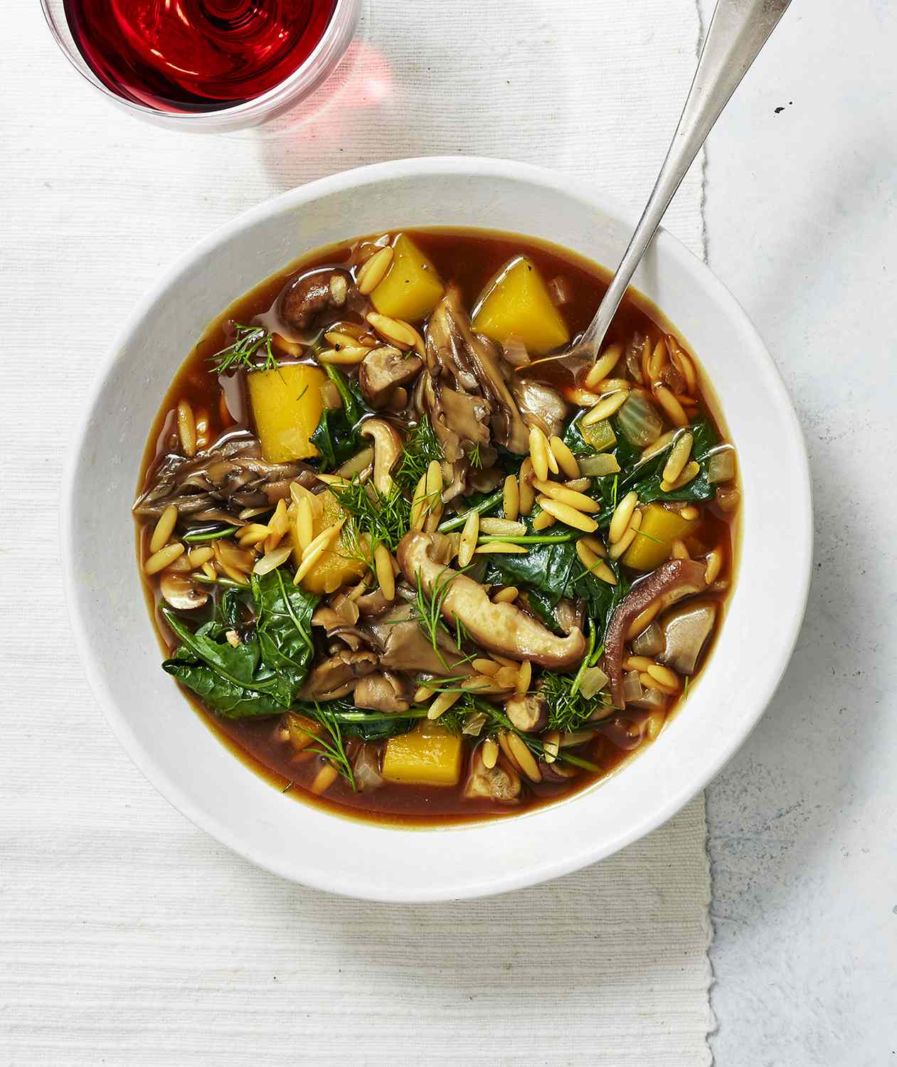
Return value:
[[(730, 762), (756, 727), (757, 722), (759, 722), (778, 689), (790, 660), (805, 614), (813, 561), (813, 505), (810, 461), (803, 433), (782, 376), (756, 328), (726, 286), (702, 259), (691, 253), (669, 230), (661, 227), (658, 230), (655, 241), (662, 243), (664, 255), (671, 257), (674, 264), (677, 262), (684, 269), (692, 272), (696, 271), (701, 275), (702, 285), (724, 307), (726, 316), (732, 321), (738, 323), (744, 338), (751, 345), (752, 356), (759, 363), (765, 372), (765, 385), (770, 389), (770, 396), (775, 402), (778, 413), (783, 417), (791, 431), (790, 445), (792, 446), (792, 460), (798, 475), (795, 488), (799, 493), (796, 507), (799, 527), (789, 530), (789, 548), (796, 557), (795, 572), (799, 572), (797, 573), (799, 582), (796, 583), (797, 595), (789, 605), (788, 618), (787, 620), (780, 620), (783, 623), (785, 639), (775, 649), (769, 650), (766, 658), (768, 668), (766, 682), (758, 689), (754, 690), (754, 706), (756, 708), (754, 714), (746, 716), (740, 727), (733, 730), (728, 744), (724, 748), (721, 748), (712, 760), (707, 761), (699, 775), (685, 781), (678, 789), (671, 792), (666, 797), (662, 806), (658, 805), (655, 810), (634, 819), (625, 830), (613, 837), (606, 837), (598, 844), (590, 845), (573, 855), (566, 855), (557, 859), (533, 860), (525, 869), (511, 871), (501, 877), (492, 877), (487, 885), (478, 883), (476, 879), (471, 879), (461, 887), (445, 888), (437, 885), (428, 887), (427, 890), (415, 890), (411, 893), (407, 890), (401, 890), (399, 887), (396, 887), (397, 891), (386, 896), (382, 892), (370, 891), (367, 887), (345, 883), (340, 880), (339, 872), (323, 874), (317, 871), (297, 871), (294, 864), (286, 857), (283, 858), (283, 861), (278, 861), (279, 858), (275, 860), (270, 856), (261, 857), (254, 853), (251, 844), (247, 844), (231, 832), (230, 828), (221, 822), (213, 812), (203, 810), (194, 805), (166, 768), (153, 759), (143, 748), (140, 738), (128, 724), (125, 714), (118, 708), (105, 672), (96, 660), (91, 642), (86, 636), (85, 610), (82, 606), (75, 578), (73, 557), (74, 521), (79, 474), (89, 447), (89, 435), (97, 402), (106, 386), (107, 379), (112, 372), (113, 367), (117, 364), (121, 353), (127, 349), (131, 335), (139, 329), (141, 321), (171, 285), (173, 278), (180, 275), (206, 253), (212, 251), (219, 243), (251, 227), (257, 220), (276, 212), (286, 205), (295, 208), (319, 196), (330, 195), (372, 182), (388, 181), (397, 178), (445, 175), (466, 178), (512, 178), (539, 186), (546, 192), (550, 192), (551, 190), (566, 194), (573, 192), (580, 195), (587, 202), (596, 203), (596, 206), (608, 211), (608, 213), (614, 214), (622, 222), (631, 225), (632, 228), (637, 221), (635, 212), (621, 207), (612, 197), (605, 196), (604, 193), (599, 197), (596, 197), (594, 191), (589, 188), (587, 182), (571, 177), (563, 172), (530, 163), (487, 157), (431, 156), (372, 163), (350, 171), (341, 171), (270, 197), (215, 227), (206, 237), (195, 242), (178, 256), (172, 265), (160, 272), (156, 282), (137, 302), (97, 367), (84, 407), (78, 419), (77, 429), (70, 442), (73, 447), (68, 451), (68, 459), (61, 484), (60, 543), (62, 550), (63, 588), (75, 644), (94, 699), (99, 705), (113, 734), (133, 764), (147, 781), (196, 827), (205, 830), (233, 851), (250, 860), (257, 866), (290, 881), (298, 881), (315, 889), (358, 899), (386, 901), (394, 904), (399, 902), (426, 903), (465, 899), (510, 892), (515, 889), (538, 885), (605, 859), (642, 838), (644, 834), (650, 833), (679, 812)], [(662, 310), (663, 308), (661, 308)], [(526, 813), (524, 813), (525, 815)], [(472, 824), (471, 828), (478, 825), (481, 824)], [(390, 829), (390, 832), (395, 831)], [(419, 831), (413, 830), (412, 832)]]

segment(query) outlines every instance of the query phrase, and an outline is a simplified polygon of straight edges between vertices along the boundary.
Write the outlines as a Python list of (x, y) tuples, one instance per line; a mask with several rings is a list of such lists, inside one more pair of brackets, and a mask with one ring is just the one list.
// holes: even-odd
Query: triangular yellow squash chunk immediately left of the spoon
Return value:
[(472, 324), (500, 345), (518, 337), (530, 355), (544, 355), (570, 340), (542, 275), (526, 256), (516, 256), (490, 283), (474, 310)]

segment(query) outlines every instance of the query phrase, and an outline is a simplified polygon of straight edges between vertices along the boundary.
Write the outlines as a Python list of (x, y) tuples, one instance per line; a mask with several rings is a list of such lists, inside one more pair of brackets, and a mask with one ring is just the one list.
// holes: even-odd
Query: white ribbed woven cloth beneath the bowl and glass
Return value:
[[(640, 206), (693, 69), (691, 0), (370, 0), (351, 61), (279, 136), (139, 124), (67, 68), (36, 2), (4, 31), (0, 1064), (708, 1063), (702, 799), (496, 899), (389, 907), (281, 881), (186, 822), (111, 736), (71, 648), (55, 515), (100, 354), (237, 211), (447, 153)], [(700, 173), (668, 224), (702, 251)]]

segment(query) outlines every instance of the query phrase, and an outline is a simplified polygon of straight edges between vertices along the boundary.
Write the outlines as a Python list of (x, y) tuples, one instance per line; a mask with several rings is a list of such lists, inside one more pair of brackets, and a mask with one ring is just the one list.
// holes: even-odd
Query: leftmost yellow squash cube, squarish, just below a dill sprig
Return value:
[(310, 437), (321, 419), (323, 371), (295, 363), (246, 376), (253, 418), (269, 463), (318, 455)]

